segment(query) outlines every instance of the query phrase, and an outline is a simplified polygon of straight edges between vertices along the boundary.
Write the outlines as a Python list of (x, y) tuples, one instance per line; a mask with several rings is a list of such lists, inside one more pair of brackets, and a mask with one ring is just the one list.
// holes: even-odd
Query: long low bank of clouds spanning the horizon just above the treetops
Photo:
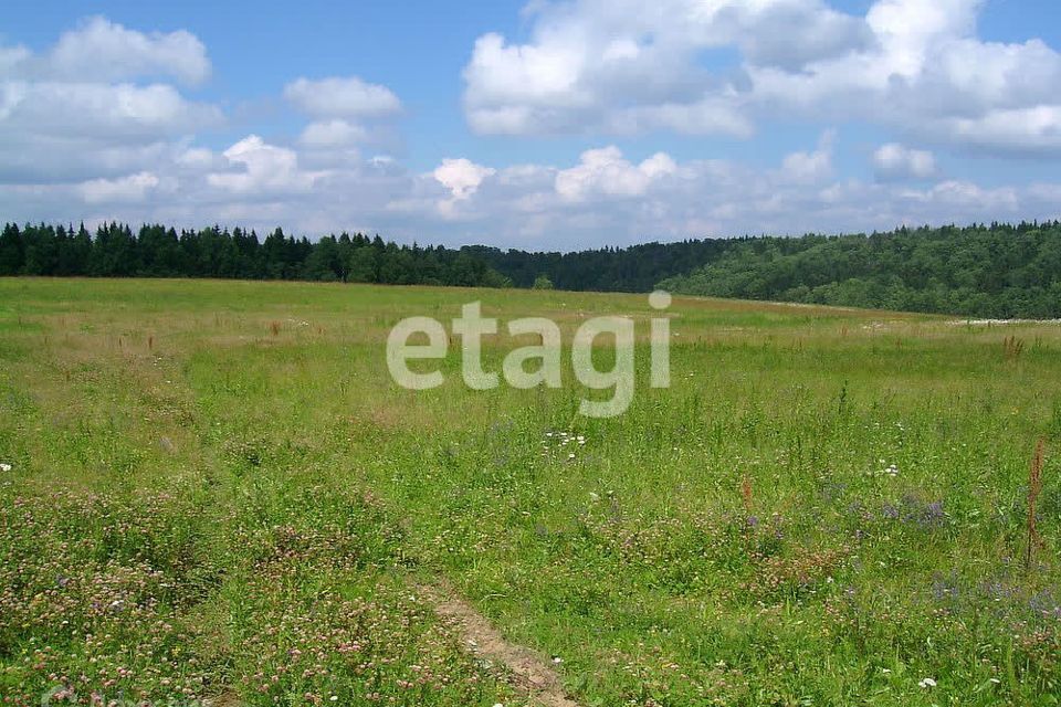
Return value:
[(224, 155), (185, 148), (171, 158), (182, 165), (172, 172), (0, 186), (0, 207), (33, 220), (217, 222), (260, 232), (280, 224), (308, 235), (360, 229), (406, 241), (547, 250), (1061, 215), (1061, 184), (837, 180), (819, 169), (830, 149), (826, 139), (798, 159), (752, 168), (665, 154), (637, 161), (601, 147), (569, 163), (493, 167), (454, 158), (417, 175), (391, 159), (307, 169), (305, 151), (249, 136)]

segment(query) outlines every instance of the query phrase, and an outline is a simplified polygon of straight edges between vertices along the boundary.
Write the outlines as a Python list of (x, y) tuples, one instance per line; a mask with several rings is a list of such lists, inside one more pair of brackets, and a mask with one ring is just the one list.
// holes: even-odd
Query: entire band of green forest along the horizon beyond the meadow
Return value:
[(540, 253), (398, 245), (380, 236), (162, 225), (7, 224), (0, 275), (553, 286), (948, 313), (1061, 317), (1061, 222), (902, 228)]

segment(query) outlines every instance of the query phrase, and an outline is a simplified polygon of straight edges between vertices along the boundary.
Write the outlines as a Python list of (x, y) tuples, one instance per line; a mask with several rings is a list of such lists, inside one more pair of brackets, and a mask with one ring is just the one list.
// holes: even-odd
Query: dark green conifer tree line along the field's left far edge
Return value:
[(307, 279), (392, 285), (505, 287), (511, 282), (471, 252), (385, 242), (363, 233), (317, 242), (276, 229), (218, 226), (182, 230), (105, 223), (94, 234), (84, 224), (9, 223), (0, 233), (0, 275), (86, 277), (221, 277)]

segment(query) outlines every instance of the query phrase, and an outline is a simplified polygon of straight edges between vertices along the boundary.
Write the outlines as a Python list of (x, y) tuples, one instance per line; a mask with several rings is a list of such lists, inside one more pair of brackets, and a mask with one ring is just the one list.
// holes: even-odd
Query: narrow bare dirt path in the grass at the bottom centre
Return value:
[(456, 592), (443, 587), (420, 584), (417, 590), (431, 602), (434, 611), (455, 624), (468, 645), (479, 656), (500, 663), (512, 671), (516, 686), (543, 707), (578, 707), (564, 694), (564, 684), (549, 662), (530, 648), (511, 643), (486, 619)]

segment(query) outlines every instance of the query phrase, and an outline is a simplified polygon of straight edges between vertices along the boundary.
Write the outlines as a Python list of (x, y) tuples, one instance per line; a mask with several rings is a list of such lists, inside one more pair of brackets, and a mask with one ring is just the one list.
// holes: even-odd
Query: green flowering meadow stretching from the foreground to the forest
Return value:
[(452, 347), (391, 382), (390, 327), (476, 299), (655, 314), (0, 279), (0, 704), (527, 704), (423, 584), (584, 706), (1061, 701), (1061, 326), (679, 298), (673, 384), (639, 345), (619, 418), (468, 390)]

